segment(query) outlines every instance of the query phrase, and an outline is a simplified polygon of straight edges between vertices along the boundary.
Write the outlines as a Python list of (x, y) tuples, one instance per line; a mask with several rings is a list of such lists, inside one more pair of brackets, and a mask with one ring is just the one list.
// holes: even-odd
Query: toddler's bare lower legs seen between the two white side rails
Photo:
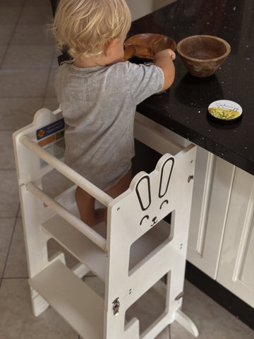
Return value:
[(75, 200), (80, 212), (80, 219), (87, 225), (92, 227), (105, 220), (106, 209), (98, 208), (95, 210), (95, 198), (80, 187), (77, 187), (75, 191)]

